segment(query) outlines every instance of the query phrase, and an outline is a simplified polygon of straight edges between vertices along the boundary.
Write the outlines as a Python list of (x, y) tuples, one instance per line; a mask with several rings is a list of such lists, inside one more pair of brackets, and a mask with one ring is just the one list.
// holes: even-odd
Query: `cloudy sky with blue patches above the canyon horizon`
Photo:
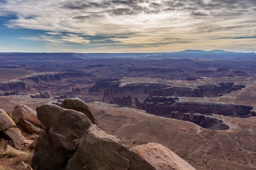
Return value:
[(256, 0), (0, 0), (0, 52), (256, 51)]

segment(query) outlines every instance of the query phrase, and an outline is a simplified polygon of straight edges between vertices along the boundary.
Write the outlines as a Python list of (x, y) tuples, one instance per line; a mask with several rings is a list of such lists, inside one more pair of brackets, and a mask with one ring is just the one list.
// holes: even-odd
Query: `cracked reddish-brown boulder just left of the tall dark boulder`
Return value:
[(39, 134), (42, 125), (36, 115), (36, 111), (25, 105), (15, 106), (12, 112), (12, 116), (16, 116), (19, 119), (19, 125), (22, 128), (29, 133)]

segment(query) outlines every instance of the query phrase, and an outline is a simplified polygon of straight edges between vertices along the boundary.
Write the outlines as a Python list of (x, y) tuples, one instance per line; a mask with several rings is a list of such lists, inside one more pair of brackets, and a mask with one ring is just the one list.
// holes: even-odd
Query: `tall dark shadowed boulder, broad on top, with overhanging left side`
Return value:
[(81, 112), (56, 105), (43, 105), (36, 111), (46, 130), (40, 131), (32, 163), (37, 170), (65, 169), (91, 122)]

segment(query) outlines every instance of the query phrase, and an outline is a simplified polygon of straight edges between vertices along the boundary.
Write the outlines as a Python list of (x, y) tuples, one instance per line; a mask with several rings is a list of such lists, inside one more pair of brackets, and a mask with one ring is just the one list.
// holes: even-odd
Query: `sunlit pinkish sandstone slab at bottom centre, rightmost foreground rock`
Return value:
[(157, 170), (195, 170), (185, 160), (159, 143), (134, 146), (131, 150), (138, 153)]

